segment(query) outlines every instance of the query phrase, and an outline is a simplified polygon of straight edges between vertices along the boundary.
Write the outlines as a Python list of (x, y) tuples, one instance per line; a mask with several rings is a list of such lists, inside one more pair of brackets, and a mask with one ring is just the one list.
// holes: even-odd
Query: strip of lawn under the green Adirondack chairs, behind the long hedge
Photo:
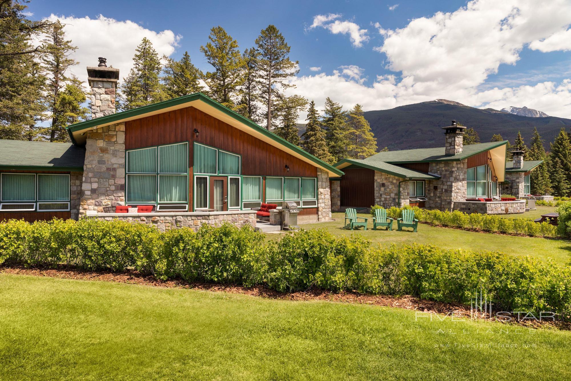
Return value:
[[(541, 237), (506, 236), (492, 233), (469, 232), (460, 229), (432, 227), (427, 224), (419, 224), (418, 232), (404, 228), (396, 230), (396, 221), (393, 223), (393, 231), (372, 230), (373, 219), (371, 215), (359, 214), (359, 217), (367, 217), (369, 226), (367, 231), (359, 228), (358, 231), (350, 231), (343, 228), (344, 213), (333, 213), (335, 221), (327, 223), (302, 224), (304, 229), (325, 228), (335, 235), (349, 236), (352, 233), (360, 234), (373, 243), (382, 245), (391, 244), (430, 244), (448, 249), (467, 249), (471, 251), (501, 251), (510, 255), (529, 255), (541, 259), (552, 258), (559, 264), (571, 261), (571, 241), (545, 239)], [(283, 234), (283, 233), (282, 233)], [(276, 239), (279, 234), (268, 234), (268, 238)]]

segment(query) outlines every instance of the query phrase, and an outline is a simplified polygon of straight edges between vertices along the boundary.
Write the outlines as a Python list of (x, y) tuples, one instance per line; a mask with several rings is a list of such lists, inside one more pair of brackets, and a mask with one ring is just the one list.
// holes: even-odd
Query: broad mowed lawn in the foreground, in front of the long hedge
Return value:
[(571, 378), (555, 329), (6, 274), (0, 297), (2, 380)]

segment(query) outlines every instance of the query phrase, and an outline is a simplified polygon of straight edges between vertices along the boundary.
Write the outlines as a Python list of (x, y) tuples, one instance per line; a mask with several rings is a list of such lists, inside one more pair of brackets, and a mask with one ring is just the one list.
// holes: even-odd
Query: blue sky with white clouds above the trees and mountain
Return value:
[(67, 23), (80, 78), (98, 55), (126, 76), (143, 36), (160, 53), (179, 58), (188, 50), (196, 66), (211, 70), (199, 47), (212, 26), (244, 49), (273, 23), (299, 61), (290, 91), (317, 105), (327, 96), (365, 110), (447, 98), (571, 117), (571, 0), (497, 3), (32, 0), (29, 11)]

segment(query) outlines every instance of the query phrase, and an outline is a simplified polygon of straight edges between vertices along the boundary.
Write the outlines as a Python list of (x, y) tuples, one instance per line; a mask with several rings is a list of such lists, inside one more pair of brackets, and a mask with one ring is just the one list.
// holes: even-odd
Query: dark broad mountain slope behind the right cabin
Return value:
[(548, 150), (549, 142), (553, 141), (561, 127), (571, 127), (571, 119), (551, 116), (530, 118), (494, 109), (476, 109), (448, 100), (367, 111), (365, 118), (371, 124), (377, 146), (387, 146), (389, 149), (444, 146), (444, 131), (441, 127), (449, 126), (453, 119), (474, 128), (482, 142), (490, 141), (492, 135), (497, 133), (513, 142), (517, 132), (521, 131), (528, 146), (535, 126)]

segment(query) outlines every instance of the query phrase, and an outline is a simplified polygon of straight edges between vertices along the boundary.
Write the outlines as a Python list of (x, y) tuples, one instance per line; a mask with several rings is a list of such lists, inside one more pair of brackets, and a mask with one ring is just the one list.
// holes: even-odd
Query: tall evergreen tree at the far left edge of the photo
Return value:
[(0, 2), (0, 139), (32, 140), (46, 109), (41, 49), (33, 41), (52, 22), (30, 21), (26, 8), (18, 1)]

